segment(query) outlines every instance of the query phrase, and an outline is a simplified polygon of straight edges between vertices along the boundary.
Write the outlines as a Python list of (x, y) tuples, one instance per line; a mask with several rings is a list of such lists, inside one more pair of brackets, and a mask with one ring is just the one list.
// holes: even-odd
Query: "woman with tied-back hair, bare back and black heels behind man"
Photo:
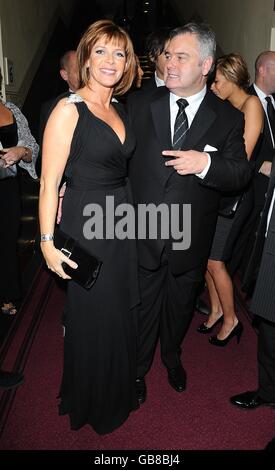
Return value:
[[(259, 98), (247, 92), (249, 79), (245, 61), (239, 54), (232, 53), (218, 59), (216, 76), (211, 87), (217, 96), (223, 100), (227, 99), (244, 113), (244, 141), (248, 159), (256, 152), (264, 119)], [(233, 218), (221, 215), (218, 217), (206, 273), (211, 313), (207, 321), (198, 328), (199, 333), (210, 333), (214, 325), (222, 321), (218, 334), (209, 338), (209, 342), (215, 346), (225, 346), (234, 336), (240, 339), (242, 333), (242, 324), (234, 307), (233, 284), (225, 262), (231, 256), (232, 247), (252, 210), (252, 205), (252, 190), (248, 188)]]

